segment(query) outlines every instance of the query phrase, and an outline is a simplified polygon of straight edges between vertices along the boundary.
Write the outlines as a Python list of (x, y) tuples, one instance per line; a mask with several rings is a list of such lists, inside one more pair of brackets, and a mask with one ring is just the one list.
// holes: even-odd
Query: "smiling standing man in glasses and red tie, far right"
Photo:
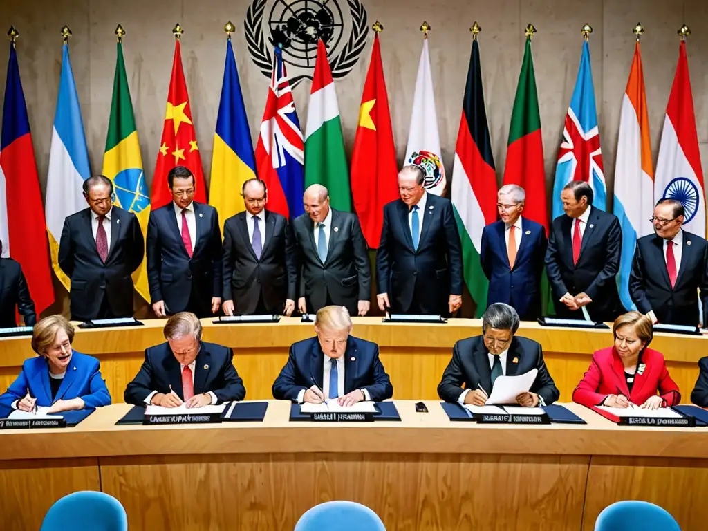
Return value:
[(636, 241), (629, 295), (653, 323), (702, 326), (698, 290), (708, 315), (708, 245), (681, 229), (684, 220), (680, 201), (661, 199), (651, 218), (656, 234)]

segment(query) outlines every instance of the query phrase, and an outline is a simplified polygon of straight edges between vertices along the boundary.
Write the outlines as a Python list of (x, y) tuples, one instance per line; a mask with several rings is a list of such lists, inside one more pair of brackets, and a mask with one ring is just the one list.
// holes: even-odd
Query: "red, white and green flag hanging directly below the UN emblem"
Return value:
[(345, 212), (352, 210), (337, 93), (327, 50), (321, 39), (317, 44), (305, 128), (305, 187), (312, 184), (326, 186), (332, 208)]

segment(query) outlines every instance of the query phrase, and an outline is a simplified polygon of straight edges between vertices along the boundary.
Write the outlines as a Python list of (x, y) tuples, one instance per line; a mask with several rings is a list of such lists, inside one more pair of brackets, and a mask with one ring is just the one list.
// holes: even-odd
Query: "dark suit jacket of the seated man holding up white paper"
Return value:
[[(542, 396), (546, 405), (552, 404), (560, 396), (553, 378), (543, 360), (543, 350), (539, 343), (531, 339), (514, 336), (506, 354), (506, 375), (523, 375), (538, 369), (530, 392)], [(484, 346), (482, 336), (462, 339), (452, 348), (452, 360), (442, 373), (438, 384), (438, 395), (447, 402), (457, 402), (464, 392), (462, 389), (477, 389), (480, 384), (484, 392), (491, 395), (491, 367), (489, 350)]]

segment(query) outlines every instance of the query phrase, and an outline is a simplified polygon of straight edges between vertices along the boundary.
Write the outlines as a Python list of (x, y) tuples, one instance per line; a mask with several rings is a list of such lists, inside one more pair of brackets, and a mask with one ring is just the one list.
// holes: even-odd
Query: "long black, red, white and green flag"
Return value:
[(481, 316), (486, 309), (489, 282), (479, 263), (479, 249), (482, 229), (496, 221), (496, 171), (484, 110), (476, 35), (472, 41), (462, 119), (455, 146), (451, 198), (462, 240), (464, 281), (477, 304), (477, 316)]

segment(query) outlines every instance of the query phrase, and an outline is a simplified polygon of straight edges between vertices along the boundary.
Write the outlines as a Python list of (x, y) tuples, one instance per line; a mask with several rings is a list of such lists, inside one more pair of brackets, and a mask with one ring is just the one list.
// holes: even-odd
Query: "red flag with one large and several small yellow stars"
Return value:
[(172, 62), (172, 77), (167, 93), (167, 110), (162, 127), (160, 152), (157, 154), (155, 173), (152, 176), (152, 210), (166, 205), (172, 200), (167, 173), (175, 166), (185, 166), (194, 174), (194, 200), (207, 202), (207, 190), (202, 173), (202, 159), (199, 156), (197, 137), (192, 125), (192, 111), (189, 108), (187, 84), (182, 70), (182, 54), (179, 39), (175, 40), (175, 57)]

